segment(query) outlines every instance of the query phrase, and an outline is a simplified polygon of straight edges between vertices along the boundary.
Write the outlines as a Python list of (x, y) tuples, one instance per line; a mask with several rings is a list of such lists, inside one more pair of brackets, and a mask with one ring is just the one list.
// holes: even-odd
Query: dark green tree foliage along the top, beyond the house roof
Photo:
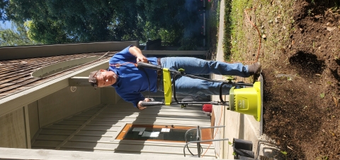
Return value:
[[(190, 2), (190, 3), (189, 3)], [(197, 23), (197, 1), (3, 0), (0, 20), (26, 23), (28, 37), (43, 44), (162, 38), (179, 44), (184, 27)], [(184, 48), (195, 48), (188, 39)], [(189, 47), (188, 47), (189, 46)]]

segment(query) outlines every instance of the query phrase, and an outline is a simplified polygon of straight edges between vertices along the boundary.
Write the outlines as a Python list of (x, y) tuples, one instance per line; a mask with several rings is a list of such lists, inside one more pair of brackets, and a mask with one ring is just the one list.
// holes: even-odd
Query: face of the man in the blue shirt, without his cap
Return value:
[(117, 75), (113, 71), (99, 70), (100, 75), (97, 75), (98, 87), (106, 87), (113, 85), (117, 81)]

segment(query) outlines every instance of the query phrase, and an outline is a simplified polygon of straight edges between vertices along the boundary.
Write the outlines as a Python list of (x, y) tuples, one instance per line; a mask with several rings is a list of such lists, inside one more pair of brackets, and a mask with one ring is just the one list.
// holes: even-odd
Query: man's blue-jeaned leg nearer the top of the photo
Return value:
[(166, 57), (161, 59), (162, 67), (171, 70), (183, 68), (185, 73), (191, 75), (210, 74), (217, 75), (237, 75), (247, 78), (249, 74), (248, 66), (242, 63), (225, 63), (220, 61), (205, 61), (192, 57)]

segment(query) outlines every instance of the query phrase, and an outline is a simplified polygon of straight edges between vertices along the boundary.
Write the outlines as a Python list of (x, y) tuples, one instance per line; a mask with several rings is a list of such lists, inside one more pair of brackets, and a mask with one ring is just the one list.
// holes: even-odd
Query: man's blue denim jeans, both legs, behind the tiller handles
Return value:
[[(163, 68), (169, 68), (169, 70), (183, 68), (188, 75), (215, 73), (217, 75), (237, 75), (242, 78), (249, 77), (248, 66), (244, 66), (242, 63), (205, 61), (191, 57), (166, 57), (161, 59), (161, 63)], [(210, 82), (179, 75), (175, 81), (175, 89), (176, 93), (188, 95), (219, 95), (221, 84), (222, 82)], [(223, 85), (222, 94), (229, 94), (231, 87), (232, 85)], [(159, 90), (163, 90), (163, 85), (159, 85)]]

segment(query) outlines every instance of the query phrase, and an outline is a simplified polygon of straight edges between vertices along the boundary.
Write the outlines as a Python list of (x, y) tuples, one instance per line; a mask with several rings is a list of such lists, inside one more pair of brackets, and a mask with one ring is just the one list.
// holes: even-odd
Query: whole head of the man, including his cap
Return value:
[(90, 73), (89, 82), (94, 88), (106, 87), (115, 84), (117, 77), (113, 71), (96, 70)]

